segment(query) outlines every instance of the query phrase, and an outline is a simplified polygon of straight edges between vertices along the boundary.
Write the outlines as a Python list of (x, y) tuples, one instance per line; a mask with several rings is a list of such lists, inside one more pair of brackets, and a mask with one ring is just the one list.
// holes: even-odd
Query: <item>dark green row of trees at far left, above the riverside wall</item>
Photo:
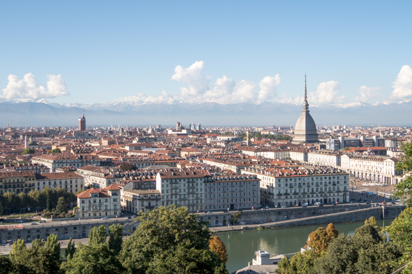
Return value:
[[(82, 192), (82, 190), (79, 190)], [(47, 208), (52, 210), (58, 204), (58, 199), (63, 198), (66, 204), (73, 203), (76, 205), (76, 195), (67, 192), (63, 188), (43, 188), (40, 192), (38, 190), (31, 190), (27, 194), (20, 192), (16, 195), (14, 192), (5, 192), (0, 195), (0, 203), (3, 206), (3, 210), (7, 210), (5, 214), (11, 212), (20, 212), (21, 208)], [(0, 211), (3, 212), (3, 210)]]

